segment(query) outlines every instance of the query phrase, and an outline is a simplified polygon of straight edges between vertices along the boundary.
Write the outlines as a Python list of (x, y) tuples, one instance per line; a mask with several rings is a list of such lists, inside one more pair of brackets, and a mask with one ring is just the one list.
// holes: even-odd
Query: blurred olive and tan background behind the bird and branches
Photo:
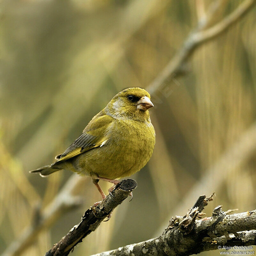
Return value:
[[(100, 200), (89, 178), (28, 171), (52, 163), (117, 92), (149, 88), (215, 2), (208, 26), (243, 1), (1, 1), (1, 255), (44, 255)], [(255, 45), (252, 8), (151, 88), (156, 146), (134, 198), (72, 255), (153, 238), (200, 194), (216, 193), (208, 216), (219, 204), (256, 208)]]

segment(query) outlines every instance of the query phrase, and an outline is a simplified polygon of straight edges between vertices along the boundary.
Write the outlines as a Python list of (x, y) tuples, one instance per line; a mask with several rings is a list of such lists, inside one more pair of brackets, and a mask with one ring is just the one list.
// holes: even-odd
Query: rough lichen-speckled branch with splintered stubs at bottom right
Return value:
[(212, 196), (200, 196), (188, 213), (172, 218), (161, 236), (93, 256), (188, 256), (223, 246), (256, 245), (256, 210), (226, 215), (217, 206), (212, 217), (196, 220)]

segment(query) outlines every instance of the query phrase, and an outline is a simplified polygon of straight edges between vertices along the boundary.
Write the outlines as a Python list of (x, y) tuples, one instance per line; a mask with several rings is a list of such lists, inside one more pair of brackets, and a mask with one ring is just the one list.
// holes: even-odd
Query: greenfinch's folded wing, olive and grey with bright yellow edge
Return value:
[(92, 148), (103, 146), (108, 140), (105, 136), (105, 132), (113, 120), (111, 116), (104, 115), (101, 112), (94, 116), (85, 127), (83, 133), (64, 151), (64, 153), (55, 157), (57, 159), (56, 162), (70, 159)]

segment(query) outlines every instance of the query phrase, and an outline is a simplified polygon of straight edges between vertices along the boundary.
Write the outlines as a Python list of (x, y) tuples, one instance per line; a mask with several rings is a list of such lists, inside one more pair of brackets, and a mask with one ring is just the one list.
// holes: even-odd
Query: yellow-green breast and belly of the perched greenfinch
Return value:
[(151, 123), (139, 123), (136, 128), (128, 122), (117, 123), (104, 146), (69, 159), (66, 169), (108, 179), (130, 176), (147, 164), (154, 145), (155, 131)]

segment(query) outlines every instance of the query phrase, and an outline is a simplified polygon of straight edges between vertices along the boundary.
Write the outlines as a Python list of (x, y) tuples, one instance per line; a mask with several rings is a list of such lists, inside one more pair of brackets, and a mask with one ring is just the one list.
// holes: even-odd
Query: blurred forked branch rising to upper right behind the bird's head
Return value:
[(198, 25), (193, 33), (191, 33), (188, 38), (184, 41), (183, 46), (174, 55), (174, 57), (168, 62), (162, 72), (155, 78), (155, 80), (148, 85), (148, 92), (150, 94), (155, 93), (161, 88), (170, 78), (173, 78), (182, 68), (182, 65), (191, 55), (191, 53), (196, 49), (196, 47), (207, 40), (220, 35), (231, 25), (239, 21), (252, 7), (256, 4), (255, 0), (246, 0), (240, 4), (235, 11), (230, 13), (226, 18), (221, 20), (216, 25), (205, 30), (208, 26), (211, 16), (216, 12), (216, 6), (211, 6), (212, 10), (208, 11), (208, 17), (199, 20)]

